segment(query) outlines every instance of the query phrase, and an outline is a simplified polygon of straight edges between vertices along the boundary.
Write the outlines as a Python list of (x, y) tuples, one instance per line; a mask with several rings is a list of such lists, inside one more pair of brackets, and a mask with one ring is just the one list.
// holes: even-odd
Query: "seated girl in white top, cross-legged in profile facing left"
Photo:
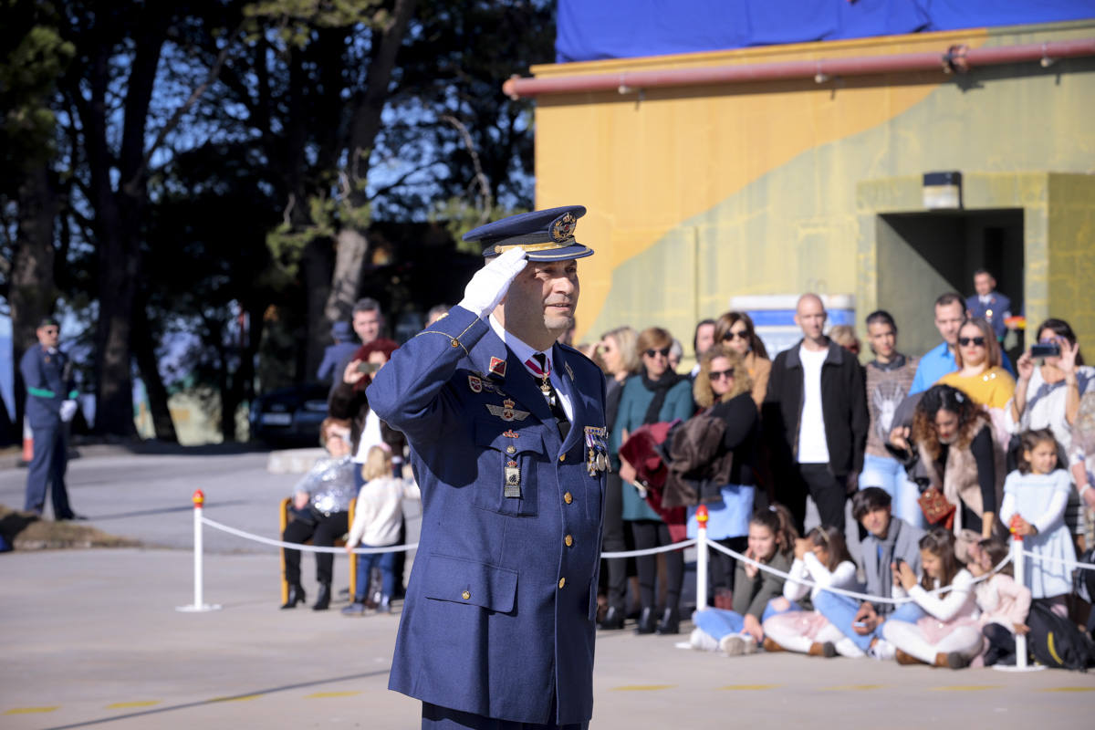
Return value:
[(915, 624), (891, 618), (883, 624), (883, 637), (897, 648), (899, 664), (960, 669), (981, 652), (973, 576), (955, 557), (955, 536), (945, 528), (920, 538), (920, 559), (924, 575), (919, 582), (908, 563), (890, 566), (894, 598), (908, 595), (927, 615)]

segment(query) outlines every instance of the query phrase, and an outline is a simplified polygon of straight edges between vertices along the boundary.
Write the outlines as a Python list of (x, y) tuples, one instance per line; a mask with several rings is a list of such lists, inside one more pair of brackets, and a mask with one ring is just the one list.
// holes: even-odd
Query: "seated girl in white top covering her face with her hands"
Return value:
[[(795, 541), (791, 578), (783, 596), (772, 599), (770, 610), (779, 611), (764, 622), (764, 649), (798, 651), (814, 657), (862, 657), (863, 652), (817, 611), (802, 611), (797, 603), (809, 593), (812, 600), (827, 587), (854, 589), (855, 564), (848, 553), (843, 533), (837, 528), (814, 528)], [(814, 587), (800, 581), (810, 580)]]

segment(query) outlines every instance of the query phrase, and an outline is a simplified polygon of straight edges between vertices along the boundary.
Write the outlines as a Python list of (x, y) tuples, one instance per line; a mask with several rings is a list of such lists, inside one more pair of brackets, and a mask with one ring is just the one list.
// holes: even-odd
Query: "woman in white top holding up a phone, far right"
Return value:
[[(1081, 462), (1082, 457), (1073, 457), (1072, 431), (1081, 397), (1095, 382), (1095, 368), (1084, 364), (1076, 335), (1064, 320), (1046, 320), (1038, 325), (1037, 332), (1038, 344), (1056, 345), (1059, 355), (1042, 358), (1040, 366), (1036, 364), (1030, 350), (1019, 356), (1015, 363), (1019, 379), (1008, 408), (1012, 432), (1048, 428), (1060, 444), (1061, 453)], [(1082, 468), (1073, 468), (1072, 475), (1077, 488), (1088, 483)], [(1076, 535), (1076, 546), (1084, 548), (1086, 540), (1082, 535), (1086, 532), (1086, 520), (1081, 501), (1079, 493), (1073, 490), (1064, 509), (1064, 523)]]

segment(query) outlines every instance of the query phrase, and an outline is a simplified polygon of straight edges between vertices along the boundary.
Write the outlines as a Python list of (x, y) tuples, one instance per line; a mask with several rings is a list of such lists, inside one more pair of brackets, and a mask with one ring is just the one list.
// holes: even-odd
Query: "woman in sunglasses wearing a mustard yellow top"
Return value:
[(967, 318), (958, 328), (958, 370), (941, 378), (938, 384), (957, 387), (978, 405), (1003, 409), (1015, 392), (1015, 381), (1001, 367), (1002, 357), (992, 325)]

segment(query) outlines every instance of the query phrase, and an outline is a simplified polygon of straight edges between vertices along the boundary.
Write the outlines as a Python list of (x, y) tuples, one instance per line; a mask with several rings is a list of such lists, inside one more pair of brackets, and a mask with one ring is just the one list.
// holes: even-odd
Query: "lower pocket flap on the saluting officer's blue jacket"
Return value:
[(509, 568), (430, 555), (424, 592), (427, 599), (468, 603), (488, 611), (510, 613), (517, 596), (517, 571)]

